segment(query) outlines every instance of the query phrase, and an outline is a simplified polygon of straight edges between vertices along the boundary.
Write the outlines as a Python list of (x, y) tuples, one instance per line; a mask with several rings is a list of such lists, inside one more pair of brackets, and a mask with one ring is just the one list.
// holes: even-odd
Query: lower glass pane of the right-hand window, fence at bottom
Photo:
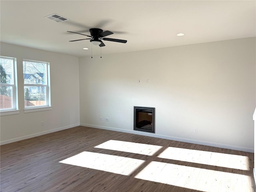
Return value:
[(24, 86), (25, 107), (46, 105), (45, 86)]

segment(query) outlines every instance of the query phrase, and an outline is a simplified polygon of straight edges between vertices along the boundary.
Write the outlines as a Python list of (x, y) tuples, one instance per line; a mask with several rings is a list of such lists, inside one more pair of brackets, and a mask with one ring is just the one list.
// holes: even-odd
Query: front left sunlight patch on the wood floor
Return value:
[(106, 172), (130, 175), (144, 160), (84, 151), (60, 163), (76, 165)]

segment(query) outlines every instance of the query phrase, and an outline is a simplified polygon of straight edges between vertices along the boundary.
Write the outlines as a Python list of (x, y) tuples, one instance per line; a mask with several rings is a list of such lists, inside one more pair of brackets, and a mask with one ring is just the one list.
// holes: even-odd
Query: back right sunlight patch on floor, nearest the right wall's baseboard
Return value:
[(158, 155), (158, 157), (240, 170), (250, 170), (248, 156), (241, 155), (168, 147), (164, 152)]

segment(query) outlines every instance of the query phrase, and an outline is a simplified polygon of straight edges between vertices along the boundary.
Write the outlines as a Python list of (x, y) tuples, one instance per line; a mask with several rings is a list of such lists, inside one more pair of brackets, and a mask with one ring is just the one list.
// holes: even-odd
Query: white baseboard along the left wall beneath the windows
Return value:
[(60, 127), (60, 128), (56, 128), (56, 129), (52, 129), (52, 130), (48, 130), (48, 131), (43, 131), (43, 132), (31, 134), (31, 135), (26, 135), (26, 136), (22, 136), (22, 137), (10, 139), (10, 140), (1, 141), (0, 145), (9, 144), (9, 143), (13, 143), (13, 142), (16, 142), (16, 141), (21, 141), (21, 140), (24, 140), (24, 139), (29, 139), (29, 138), (32, 138), (32, 137), (37, 137), (37, 136), (40, 136), (40, 135), (44, 135), (44, 134), (48, 134), (48, 133), (52, 133), (52, 132), (56, 132), (56, 131), (60, 131), (60, 130), (64, 130), (64, 129), (69, 129), (69, 128), (76, 127), (76, 126), (79, 126), (79, 123), (78, 124), (69, 125), (69, 126)]

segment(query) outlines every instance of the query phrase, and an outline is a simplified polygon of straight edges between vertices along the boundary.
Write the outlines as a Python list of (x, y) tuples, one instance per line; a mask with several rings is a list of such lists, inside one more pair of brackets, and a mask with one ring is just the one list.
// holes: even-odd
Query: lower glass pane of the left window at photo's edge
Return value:
[(13, 108), (13, 96), (12, 86), (0, 87), (0, 109), (12, 109)]

